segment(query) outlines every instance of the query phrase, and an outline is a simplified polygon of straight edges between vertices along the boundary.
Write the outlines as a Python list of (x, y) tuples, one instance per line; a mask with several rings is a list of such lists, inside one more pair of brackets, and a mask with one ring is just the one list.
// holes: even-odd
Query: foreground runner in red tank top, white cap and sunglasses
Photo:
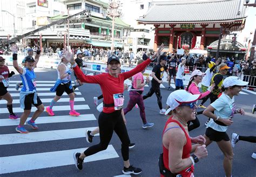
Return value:
[(194, 164), (208, 155), (205, 145), (202, 145), (205, 138), (202, 135), (191, 138), (187, 130), (187, 122), (196, 119), (199, 97), (200, 94), (177, 90), (167, 98), (169, 108), (166, 114), (171, 117), (163, 131), (163, 154), (159, 158), (161, 177), (194, 176)]

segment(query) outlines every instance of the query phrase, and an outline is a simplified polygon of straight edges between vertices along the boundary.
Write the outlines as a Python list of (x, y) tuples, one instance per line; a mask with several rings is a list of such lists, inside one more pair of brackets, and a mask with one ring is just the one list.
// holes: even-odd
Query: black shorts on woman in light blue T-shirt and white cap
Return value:
[(208, 137), (211, 141), (230, 141), (230, 137), (228, 137), (226, 132), (219, 132), (213, 130), (211, 127), (206, 128), (205, 132), (206, 137)]

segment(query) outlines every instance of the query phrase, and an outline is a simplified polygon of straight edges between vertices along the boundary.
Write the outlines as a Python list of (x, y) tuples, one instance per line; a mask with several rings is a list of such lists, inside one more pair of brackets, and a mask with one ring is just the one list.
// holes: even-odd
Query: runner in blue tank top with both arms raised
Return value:
[(28, 119), (29, 114), (31, 112), (32, 104), (37, 108), (35, 113), (33, 113), (32, 118), (26, 121), (26, 125), (30, 125), (33, 129), (37, 130), (38, 126), (35, 124), (35, 120), (38, 116), (44, 111), (44, 105), (42, 104), (41, 99), (37, 96), (36, 92), (36, 74), (34, 69), (39, 61), (40, 52), (39, 46), (36, 45), (37, 51), (35, 59), (31, 56), (25, 57), (24, 67), (18, 65), (17, 62), (17, 52), (18, 47), (13, 45), (11, 47), (12, 50), (12, 60), (14, 68), (18, 71), (21, 76), (23, 87), (21, 92), (19, 93), (19, 103), (21, 104), (21, 108), (24, 109), (23, 114), (21, 115), (21, 120), (19, 121), (19, 125), (16, 127), (16, 131), (22, 134), (29, 133), (25, 127), (25, 121)]

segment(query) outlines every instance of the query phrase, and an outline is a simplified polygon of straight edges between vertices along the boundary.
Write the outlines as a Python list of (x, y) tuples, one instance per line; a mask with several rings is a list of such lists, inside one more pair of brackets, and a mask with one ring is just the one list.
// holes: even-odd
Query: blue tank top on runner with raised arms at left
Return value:
[(36, 74), (34, 70), (23, 67), (23, 74), (19, 74), (22, 78), (22, 92), (36, 90)]

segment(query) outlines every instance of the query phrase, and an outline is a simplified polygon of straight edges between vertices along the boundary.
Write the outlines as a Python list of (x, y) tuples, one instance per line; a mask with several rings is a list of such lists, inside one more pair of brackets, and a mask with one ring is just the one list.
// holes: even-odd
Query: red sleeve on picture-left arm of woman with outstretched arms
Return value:
[(74, 72), (76, 73), (77, 78), (82, 81), (82, 83), (91, 83), (91, 84), (100, 84), (101, 80), (104, 79), (100, 79), (100, 75), (96, 75), (96, 76), (86, 76), (82, 70), (79, 68), (79, 66), (77, 65), (76, 67), (73, 67)]

